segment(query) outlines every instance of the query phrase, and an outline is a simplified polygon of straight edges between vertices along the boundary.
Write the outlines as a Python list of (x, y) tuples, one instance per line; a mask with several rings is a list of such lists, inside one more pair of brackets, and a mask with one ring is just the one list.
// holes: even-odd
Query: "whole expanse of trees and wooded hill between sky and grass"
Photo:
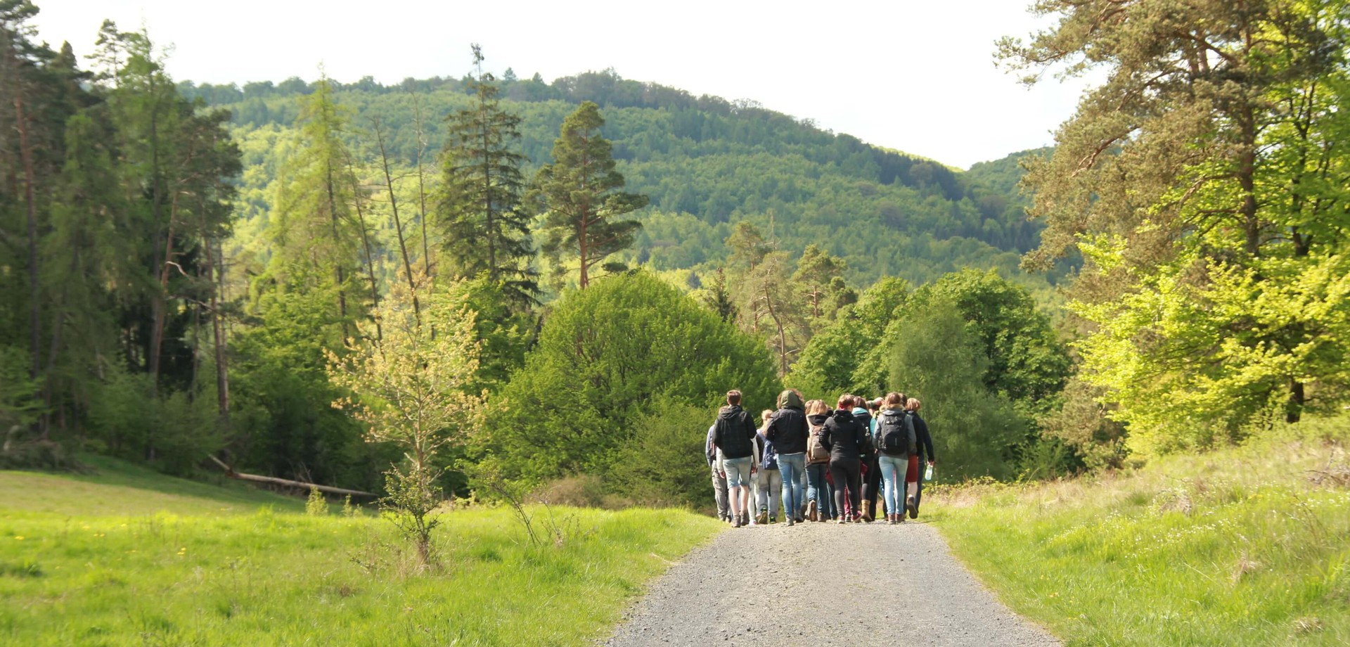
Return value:
[(0, 465), (703, 507), (730, 388), (905, 390), (949, 482), (1336, 413), (1343, 3), (1152, 4), (1040, 3), (1002, 65), (1106, 81), (1053, 147), (957, 170), (477, 46), (394, 85), (176, 81), (144, 30), (51, 47), (3, 0)]

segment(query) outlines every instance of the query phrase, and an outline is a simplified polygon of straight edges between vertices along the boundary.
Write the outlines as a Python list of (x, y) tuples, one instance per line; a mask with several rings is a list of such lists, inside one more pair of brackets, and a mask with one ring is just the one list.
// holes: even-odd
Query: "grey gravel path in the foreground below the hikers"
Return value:
[(603, 644), (1060, 643), (995, 600), (936, 528), (910, 521), (728, 528), (657, 579)]

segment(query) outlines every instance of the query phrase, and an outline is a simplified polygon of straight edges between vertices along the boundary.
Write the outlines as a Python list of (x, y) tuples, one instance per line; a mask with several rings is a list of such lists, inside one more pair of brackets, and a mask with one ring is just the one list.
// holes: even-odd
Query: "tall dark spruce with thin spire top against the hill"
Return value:
[(529, 305), (539, 294), (539, 273), (531, 263), (529, 215), (521, 208), (525, 157), (514, 149), (520, 116), (502, 109), (493, 76), (482, 72), (482, 49), (474, 45), (473, 51), (474, 105), (447, 119), (450, 138), (435, 204), (446, 251), (441, 263), (455, 277), (501, 282), (514, 303)]

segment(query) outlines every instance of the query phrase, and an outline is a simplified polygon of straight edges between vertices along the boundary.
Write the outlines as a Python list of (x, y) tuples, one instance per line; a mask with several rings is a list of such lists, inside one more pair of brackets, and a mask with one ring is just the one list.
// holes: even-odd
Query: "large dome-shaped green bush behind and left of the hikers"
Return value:
[(606, 474), (656, 403), (703, 407), (706, 431), (729, 389), (772, 403), (759, 340), (647, 273), (608, 277), (559, 300), (475, 454), (510, 478)]

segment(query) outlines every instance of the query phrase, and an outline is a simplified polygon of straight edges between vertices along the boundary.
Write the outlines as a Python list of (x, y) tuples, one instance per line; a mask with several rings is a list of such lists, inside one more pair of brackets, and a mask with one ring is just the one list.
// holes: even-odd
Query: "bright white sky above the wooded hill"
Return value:
[(614, 68), (694, 95), (752, 99), (836, 132), (967, 167), (1050, 143), (1081, 82), (1027, 89), (994, 66), (1030, 0), (36, 0), (39, 36), (88, 54), (104, 18), (174, 46), (197, 82), (381, 82), (486, 68), (545, 81)]

